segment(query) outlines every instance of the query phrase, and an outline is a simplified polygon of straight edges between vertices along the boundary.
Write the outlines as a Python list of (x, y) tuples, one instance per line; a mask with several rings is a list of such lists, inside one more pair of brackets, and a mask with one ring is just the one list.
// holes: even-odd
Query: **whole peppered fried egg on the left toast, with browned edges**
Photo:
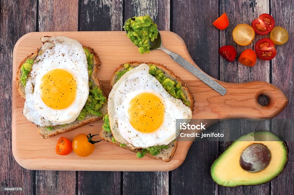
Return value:
[(24, 116), (40, 126), (76, 120), (89, 95), (88, 64), (81, 43), (42, 37), (44, 45), (26, 81)]

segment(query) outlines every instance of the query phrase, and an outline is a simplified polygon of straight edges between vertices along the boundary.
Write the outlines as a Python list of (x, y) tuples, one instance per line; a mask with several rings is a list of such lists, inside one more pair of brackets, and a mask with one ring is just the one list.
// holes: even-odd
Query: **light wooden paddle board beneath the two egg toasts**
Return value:
[[(60, 156), (55, 153), (57, 140), (64, 136), (72, 140), (84, 133), (98, 134), (103, 121), (94, 122), (73, 131), (51, 138), (42, 139), (36, 125), (29, 122), (22, 114), (25, 99), (16, 87), (16, 70), (21, 61), (41, 47), (41, 37), (66, 36), (78, 40), (81, 44), (92, 47), (101, 59), (98, 73), (103, 90), (108, 95), (109, 79), (114, 70), (127, 61), (153, 61), (171, 69), (191, 90), (195, 99), (194, 119), (230, 119), (230, 118), (272, 118), (287, 105), (284, 93), (272, 84), (254, 81), (242, 84), (225, 83), (216, 80), (228, 91), (222, 96), (190, 72), (174, 62), (161, 50), (149, 54), (140, 54), (138, 47), (125, 36), (124, 31), (112, 32), (34, 32), (21, 37), (13, 50), (12, 80), (12, 151), (16, 161), (31, 170), (99, 170), (99, 171), (170, 171), (179, 167), (186, 158), (191, 141), (178, 143), (172, 160), (168, 163), (148, 157), (138, 159), (136, 154), (114, 146), (106, 141), (95, 144), (94, 153), (88, 157), (79, 157), (74, 152)], [(191, 64), (192, 60), (185, 42), (177, 34), (162, 31), (163, 45), (178, 53)], [(269, 104), (261, 106), (258, 97), (266, 95)], [(193, 155), (193, 154), (190, 154)]]

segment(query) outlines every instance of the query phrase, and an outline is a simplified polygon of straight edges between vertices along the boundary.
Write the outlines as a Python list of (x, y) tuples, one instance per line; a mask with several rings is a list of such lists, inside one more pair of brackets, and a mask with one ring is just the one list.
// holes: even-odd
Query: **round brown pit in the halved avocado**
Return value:
[(240, 166), (248, 172), (258, 172), (270, 163), (270, 151), (261, 143), (253, 143), (241, 154)]

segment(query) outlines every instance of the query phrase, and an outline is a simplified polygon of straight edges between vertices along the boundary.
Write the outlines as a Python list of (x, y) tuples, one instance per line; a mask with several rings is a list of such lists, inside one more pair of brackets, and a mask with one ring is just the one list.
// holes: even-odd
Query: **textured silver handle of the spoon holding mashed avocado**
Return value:
[(204, 83), (206, 83), (207, 85), (209, 85), (211, 88), (213, 88), (214, 90), (216, 90), (221, 95), (225, 95), (225, 93), (227, 92), (227, 90), (223, 86), (221, 86), (216, 81), (214, 81), (212, 78), (210, 78), (205, 73), (203, 73), (202, 71), (200, 71), (198, 68), (196, 68), (195, 66), (193, 66), (192, 64), (190, 64), (187, 60), (185, 60), (184, 58), (182, 58), (179, 54), (176, 54), (176, 53), (174, 53), (174, 52), (166, 49), (163, 46), (161, 46), (158, 49), (161, 49), (164, 52), (166, 52), (175, 62), (177, 62), (178, 64), (180, 64), (181, 66), (183, 66), (186, 70), (188, 70), (189, 72), (191, 72), (193, 75), (197, 76), (201, 81), (203, 81)]

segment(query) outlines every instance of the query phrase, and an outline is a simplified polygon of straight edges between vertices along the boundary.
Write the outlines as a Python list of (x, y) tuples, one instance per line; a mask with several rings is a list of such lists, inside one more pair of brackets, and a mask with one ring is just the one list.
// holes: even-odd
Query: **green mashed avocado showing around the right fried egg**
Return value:
[[(116, 81), (118, 81), (121, 78), (121, 76), (123, 76), (127, 71), (130, 71), (131, 69), (133, 69), (133, 67), (130, 67), (129, 63), (123, 64), (123, 66), (125, 68), (123, 71), (116, 72), (118, 76)], [(182, 90), (181, 83), (177, 83), (176, 81), (173, 81), (170, 78), (167, 78), (166, 76), (164, 76), (164, 73), (160, 69), (157, 69), (155, 65), (148, 64), (148, 66), (150, 67), (149, 74), (155, 76), (155, 78), (161, 83), (163, 88), (165, 88), (169, 94), (171, 94), (174, 98), (183, 100), (183, 102), (187, 106), (190, 106), (191, 103), (187, 101), (186, 96)], [(108, 114), (105, 114), (103, 116), (103, 121), (104, 121), (104, 124), (102, 128), (104, 129), (104, 131), (111, 133)], [(112, 138), (112, 141), (115, 142), (115, 139), (113, 137), (111, 138)], [(120, 146), (125, 147), (125, 145), (122, 143), (120, 144)], [(142, 158), (143, 156), (145, 156), (146, 153), (150, 153), (151, 155), (155, 156), (159, 154), (162, 149), (167, 149), (167, 148), (168, 148), (168, 145), (151, 146), (151, 147), (142, 149), (141, 152), (137, 152), (137, 157)]]

